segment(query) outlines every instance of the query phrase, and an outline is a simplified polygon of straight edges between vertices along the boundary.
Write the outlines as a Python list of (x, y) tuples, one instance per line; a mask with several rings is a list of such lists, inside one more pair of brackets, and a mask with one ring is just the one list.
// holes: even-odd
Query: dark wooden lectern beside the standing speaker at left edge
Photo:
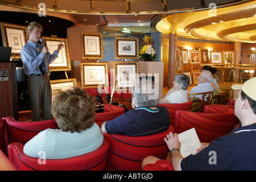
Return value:
[(0, 63), (0, 118), (19, 120), (16, 63)]

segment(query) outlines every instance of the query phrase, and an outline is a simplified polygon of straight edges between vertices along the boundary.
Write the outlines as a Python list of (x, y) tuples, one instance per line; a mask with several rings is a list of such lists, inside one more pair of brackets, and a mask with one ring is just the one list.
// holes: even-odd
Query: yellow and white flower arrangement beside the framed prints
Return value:
[(154, 49), (154, 42), (152, 42), (152, 37), (145, 35), (142, 43), (142, 49), (139, 52), (139, 59), (142, 61), (154, 61), (156, 58), (156, 51)]

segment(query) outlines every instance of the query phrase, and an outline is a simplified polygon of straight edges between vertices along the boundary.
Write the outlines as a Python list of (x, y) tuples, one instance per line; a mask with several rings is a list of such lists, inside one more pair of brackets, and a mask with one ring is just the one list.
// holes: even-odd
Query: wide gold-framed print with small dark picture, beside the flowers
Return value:
[(139, 38), (115, 37), (115, 59), (139, 59)]

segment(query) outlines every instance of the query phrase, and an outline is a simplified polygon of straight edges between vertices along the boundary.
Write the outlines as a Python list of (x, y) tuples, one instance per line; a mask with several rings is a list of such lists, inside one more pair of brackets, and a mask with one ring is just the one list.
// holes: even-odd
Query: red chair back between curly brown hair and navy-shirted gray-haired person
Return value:
[(103, 113), (96, 113), (94, 121), (101, 127), (102, 122), (112, 120), (125, 113), (125, 108), (112, 104), (105, 104)]

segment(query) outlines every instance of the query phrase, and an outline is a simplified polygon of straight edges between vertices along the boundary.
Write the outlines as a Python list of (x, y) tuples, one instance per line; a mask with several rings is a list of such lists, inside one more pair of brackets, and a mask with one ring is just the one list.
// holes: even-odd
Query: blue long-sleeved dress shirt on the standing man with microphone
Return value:
[[(43, 45), (38, 44), (38, 46), (41, 52)], [(41, 71), (39, 69), (39, 65), (42, 63), (42, 61), (44, 61), (44, 65), (51, 64), (58, 57), (57, 54), (58, 52), (54, 51), (52, 55), (51, 53), (47, 52), (46, 55), (40, 53), (37, 56), (36, 44), (28, 40), (28, 42), (25, 44), (25, 46), (22, 47), (22, 50), (20, 51), (20, 57), (24, 64), (25, 75), (31, 75), (32, 73), (40, 74)], [(46, 72), (49, 73), (48, 66), (46, 67)]]

